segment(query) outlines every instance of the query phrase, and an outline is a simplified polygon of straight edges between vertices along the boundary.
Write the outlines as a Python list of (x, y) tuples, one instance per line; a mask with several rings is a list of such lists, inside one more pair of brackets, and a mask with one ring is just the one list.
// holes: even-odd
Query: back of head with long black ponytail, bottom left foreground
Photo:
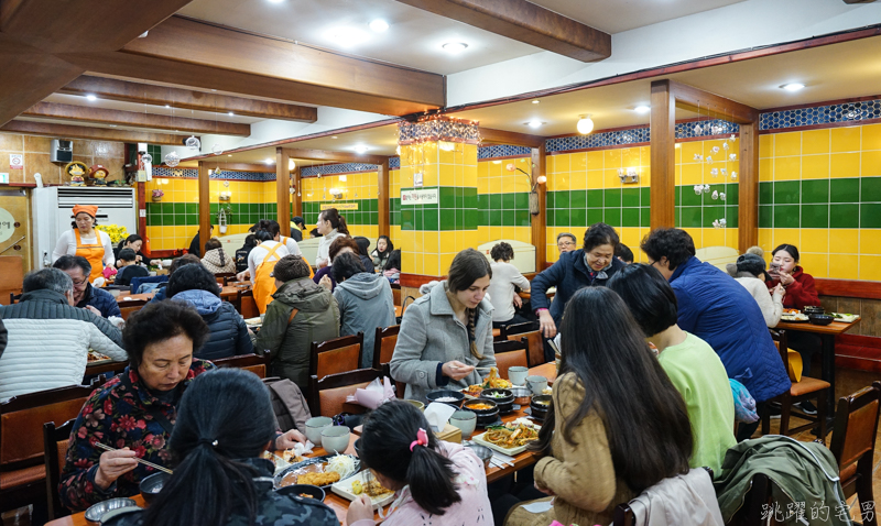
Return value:
[(272, 402), (260, 379), (239, 369), (197, 376), (184, 392), (168, 440), (174, 474), (143, 524), (226, 524), (238, 506), (253, 524), (258, 473), (239, 460), (259, 457), (274, 436)]

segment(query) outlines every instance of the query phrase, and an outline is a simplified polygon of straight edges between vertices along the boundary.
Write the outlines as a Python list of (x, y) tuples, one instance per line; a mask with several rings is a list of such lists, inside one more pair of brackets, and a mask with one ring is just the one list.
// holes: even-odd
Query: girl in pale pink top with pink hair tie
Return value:
[[(421, 410), (405, 402), (379, 406), (365, 420), (358, 457), (383, 486), (395, 491), (387, 526), (489, 526), (483, 463), (468, 448), (435, 438)], [(349, 505), (349, 526), (372, 526), (373, 506)]]

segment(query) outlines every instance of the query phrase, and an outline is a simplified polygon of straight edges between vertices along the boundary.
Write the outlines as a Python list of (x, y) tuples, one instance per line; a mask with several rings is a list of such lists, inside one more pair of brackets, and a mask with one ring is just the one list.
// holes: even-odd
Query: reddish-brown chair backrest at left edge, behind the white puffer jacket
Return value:
[(0, 471), (39, 465), (43, 424), (76, 418), (94, 387), (70, 385), (13, 396), (0, 404)]

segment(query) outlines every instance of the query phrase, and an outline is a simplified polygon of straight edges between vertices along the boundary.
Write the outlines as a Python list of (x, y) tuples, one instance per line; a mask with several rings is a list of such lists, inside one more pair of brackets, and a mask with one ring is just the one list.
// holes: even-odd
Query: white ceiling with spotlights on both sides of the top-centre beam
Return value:
[[(534, 0), (534, 3), (587, 25), (617, 33), (708, 11), (743, 0)], [(542, 50), (394, 0), (194, 0), (177, 12), (260, 34), (360, 55), (442, 75), (472, 69)], [(376, 33), (368, 24), (383, 19), (390, 28)], [(338, 30), (362, 41), (344, 45)], [(450, 55), (440, 46), (464, 42)]]

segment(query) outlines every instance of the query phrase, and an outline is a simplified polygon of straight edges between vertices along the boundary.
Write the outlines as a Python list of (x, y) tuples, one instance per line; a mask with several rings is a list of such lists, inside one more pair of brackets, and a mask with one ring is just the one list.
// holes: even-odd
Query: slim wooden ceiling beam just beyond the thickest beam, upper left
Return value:
[(232, 112), (237, 116), (258, 117), (297, 122), (315, 122), (318, 109), (309, 106), (286, 105), (267, 100), (246, 99), (229, 95), (206, 94), (192, 89), (129, 83), (115, 78), (84, 75), (58, 90), (68, 95), (91, 94), (100, 99), (137, 102), (150, 106), (171, 106), (196, 111)]

